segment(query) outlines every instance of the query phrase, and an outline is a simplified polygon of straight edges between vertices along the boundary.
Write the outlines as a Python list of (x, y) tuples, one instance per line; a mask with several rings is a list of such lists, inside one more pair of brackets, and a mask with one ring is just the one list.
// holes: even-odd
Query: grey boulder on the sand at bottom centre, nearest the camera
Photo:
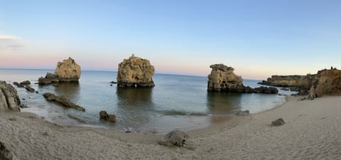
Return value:
[(158, 144), (162, 144), (165, 146), (184, 146), (188, 141), (188, 134), (182, 131), (172, 131), (161, 139)]

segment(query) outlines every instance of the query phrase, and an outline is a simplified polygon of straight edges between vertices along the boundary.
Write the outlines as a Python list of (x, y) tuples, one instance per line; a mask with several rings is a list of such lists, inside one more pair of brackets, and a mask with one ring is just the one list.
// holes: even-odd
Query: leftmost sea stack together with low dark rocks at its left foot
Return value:
[(38, 83), (40, 85), (49, 85), (53, 82), (78, 82), (80, 74), (80, 65), (75, 63), (72, 58), (68, 58), (63, 62), (58, 62), (55, 73), (47, 73), (45, 78), (40, 77)]

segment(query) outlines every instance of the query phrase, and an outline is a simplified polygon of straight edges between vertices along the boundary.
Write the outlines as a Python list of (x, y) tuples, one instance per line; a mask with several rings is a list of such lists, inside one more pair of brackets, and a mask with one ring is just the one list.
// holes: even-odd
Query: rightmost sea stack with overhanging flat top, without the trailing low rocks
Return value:
[(207, 90), (243, 92), (242, 77), (233, 73), (234, 68), (223, 64), (210, 65), (212, 71), (208, 75)]

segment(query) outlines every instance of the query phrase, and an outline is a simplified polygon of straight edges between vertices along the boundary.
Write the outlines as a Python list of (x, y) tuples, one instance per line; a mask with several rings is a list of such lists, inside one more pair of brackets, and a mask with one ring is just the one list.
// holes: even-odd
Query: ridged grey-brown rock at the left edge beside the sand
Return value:
[(4, 81), (0, 81), (0, 111), (20, 111), (20, 98), (16, 89)]

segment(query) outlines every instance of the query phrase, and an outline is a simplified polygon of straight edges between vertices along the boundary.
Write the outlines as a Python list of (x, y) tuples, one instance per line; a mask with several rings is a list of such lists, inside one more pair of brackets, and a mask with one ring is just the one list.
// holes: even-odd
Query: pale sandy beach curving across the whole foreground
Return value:
[[(341, 97), (288, 99), (234, 124), (189, 132), (194, 150), (158, 145), (160, 136), (61, 127), (30, 113), (1, 113), (0, 141), (21, 160), (341, 159)], [(279, 117), (286, 124), (271, 127)]]

